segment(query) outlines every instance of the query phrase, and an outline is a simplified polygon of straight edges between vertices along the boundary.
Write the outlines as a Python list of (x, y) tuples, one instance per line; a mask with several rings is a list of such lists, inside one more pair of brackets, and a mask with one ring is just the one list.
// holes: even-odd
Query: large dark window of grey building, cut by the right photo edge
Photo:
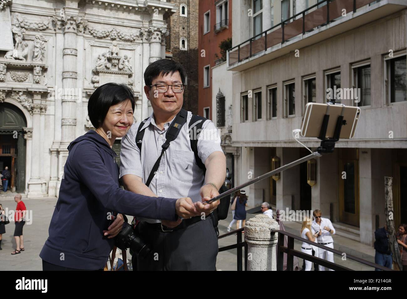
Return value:
[[(396, 55), (394, 55), (396, 56)], [(406, 55), (389, 58), (386, 63), (385, 90), (387, 103), (398, 103), (407, 100), (407, 64)]]

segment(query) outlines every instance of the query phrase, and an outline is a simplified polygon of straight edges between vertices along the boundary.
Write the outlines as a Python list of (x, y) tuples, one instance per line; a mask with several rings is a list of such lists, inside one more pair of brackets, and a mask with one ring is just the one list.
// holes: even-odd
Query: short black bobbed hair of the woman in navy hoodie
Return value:
[(103, 124), (107, 111), (113, 105), (124, 102), (125, 100), (131, 101), (131, 108), (134, 112), (136, 105), (134, 101), (133, 89), (124, 83), (106, 83), (93, 92), (88, 101), (88, 115), (89, 120), (97, 129)]

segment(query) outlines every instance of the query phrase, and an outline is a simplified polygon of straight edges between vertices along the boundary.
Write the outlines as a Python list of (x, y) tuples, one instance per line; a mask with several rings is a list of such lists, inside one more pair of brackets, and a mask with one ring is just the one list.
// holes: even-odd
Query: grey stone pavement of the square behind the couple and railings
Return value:
[[(0, 270), (10, 271), (10, 270), (20, 270), (20, 271), (39, 271), (42, 270), (42, 261), (39, 258), (39, 252), (44, 245), (44, 242), (48, 238), (48, 227), (54, 212), (55, 204), (57, 198), (47, 197), (42, 199), (23, 199), (28, 210), (32, 210), (33, 220), (31, 225), (24, 225), (23, 236), (24, 236), (24, 247), (25, 251), (17, 255), (11, 255), (11, 252), (15, 249), (15, 240), (13, 237), (14, 233), (14, 223), (6, 225), (6, 234), (2, 235), (1, 247), (3, 250), (0, 251)], [(13, 200), (0, 200), (3, 209), (14, 210), (16, 203)], [(247, 214), (247, 220), (254, 217), (253, 214)], [(131, 219), (131, 217), (128, 217)], [(232, 220), (232, 213), (229, 212), (228, 218), (219, 221), (219, 233), (225, 234), (227, 232), (227, 227)], [(286, 230), (299, 236), (299, 223), (284, 223), (286, 225)], [(235, 229), (232, 228), (232, 229)], [(359, 251), (352, 248), (359, 249), (361, 247), (359, 242), (352, 241), (347, 238), (346, 242), (342, 240), (342, 245), (338, 243), (338, 238), (334, 237), (335, 249), (345, 250), (346, 252), (358, 257), (362, 257)], [(236, 243), (236, 235), (228, 236), (219, 240), (219, 247), (231, 245)], [(295, 240), (294, 247), (300, 250), (301, 242)], [(127, 255), (130, 257), (129, 253)], [(363, 258), (372, 261), (371, 255), (363, 255)], [(236, 271), (237, 269), (237, 251), (232, 249), (229, 251), (220, 252), (217, 257), (217, 270), (219, 271)], [(374, 258), (373, 258), (374, 261)], [(299, 259), (300, 267), (302, 266), (302, 260)], [(374, 270), (371, 267), (361, 265), (357, 262), (350, 260), (342, 261), (341, 257), (335, 256), (335, 262), (342, 264), (354, 270)]]

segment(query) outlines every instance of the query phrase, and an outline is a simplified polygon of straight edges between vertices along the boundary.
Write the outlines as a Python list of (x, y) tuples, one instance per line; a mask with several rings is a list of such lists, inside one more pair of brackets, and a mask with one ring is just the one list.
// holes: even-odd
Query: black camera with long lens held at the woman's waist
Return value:
[(136, 230), (127, 223), (127, 217), (123, 215), (125, 223), (120, 233), (115, 238), (115, 245), (121, 250), (130, 248), (133, 253), (136, 253), (141, 258), (147, 257), (151, 252), (151, 248), (148, 244), (144, 243)]

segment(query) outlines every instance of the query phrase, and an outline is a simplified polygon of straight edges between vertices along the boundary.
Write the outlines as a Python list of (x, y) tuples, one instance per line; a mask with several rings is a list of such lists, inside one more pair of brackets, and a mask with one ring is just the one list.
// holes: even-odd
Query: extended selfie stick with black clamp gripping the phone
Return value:
[[(342, 106), (342, 113), (340, 116), (338, 116), (337, 122), (336, 122), (336, 126), (335, 126), (335, 133), (333, 138), (326, 138), (326, 129), (328, 128), (328, 122), (329, 122), (329, 106), (330, 105), (335, 105), (335, 103), (327, 103), (328, 107), (326, 109), (326, 114), (324, 116), (324, 120), (322, 121), (322, 125), (321, 125), (321, 131), (319, 132), (319, 137), (318, 139), (322, 140), (321, 141), (321, 145), (317, 148), (317, 151), (311, 153), (311, 155), (305, 156), (301, 159), (295, 160), (289, 164), (286, 164), (284, 166), (281, 166), (275, 170), (271, 170), (270, 172), (265, 173), (264, 175), (260, 175), (260, 177), (257, 177), (256, 179), (252, 179), (240, 186), (234, 187), (226, 192), (223, 192), (222, 194), (219, 194), (218, 196), (215, 196), (214, 198), (204, 202), (203, 204), (206, 205), (208, 203), (212, 203), (213, 201), (217, 201), (218, 199), (221, 199), (225, 196), (228, 196), (229, 194), (232, 194), (234, 192), (236, 192), (237, 190), (241, 190), (244, 187), (247, 187), (249, 185), (252, 185), (258, 181), (261, 181), (262, 179), (265, 179), (267, 177), (271, 177), (272, 175), (275, 175), (278, 172), (281, 172), (283, 170), (287, 170), (293, 166), (296, 166), (298, 164), (301, 164), (302, 162), (306, 162), (310, 159), (312, 159), (313, 157), (321, 157), (322, 154), (326, 154), (326, 153), (332, 153), (334, 148), (335, 148), (335, 142), (337, 142), (339, 140), (339, 135), (341, 134), (341, 127), (342, 124), (344, 122), (344, 116), (343, 116), (343, 112), (344, 112), (344, 108), (345, 105), (340, 104)], [(338, 105), (338, 104), (337, 104)]]

